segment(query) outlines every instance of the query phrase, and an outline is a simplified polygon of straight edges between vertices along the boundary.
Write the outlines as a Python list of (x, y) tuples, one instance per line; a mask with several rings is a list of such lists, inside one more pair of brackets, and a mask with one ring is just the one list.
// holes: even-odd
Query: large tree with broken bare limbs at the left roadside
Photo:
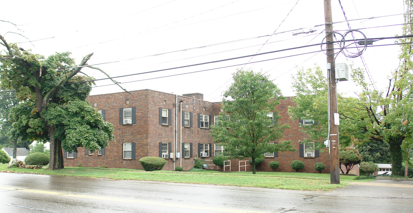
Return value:
[(7, 43), (1, 35), (0, 40), (1, 88), (15, 90), (21, 102), (10, 114), (12, 137), (49, 140), (49, 169), (63, 168), (62, 147), (100, 149), (114, 138), (113, 125), (85, 101), (90, 83), (66, 84), (93, 80), (78, 75), (93, 54), (76, 64), (69, 52), (45, 58)]

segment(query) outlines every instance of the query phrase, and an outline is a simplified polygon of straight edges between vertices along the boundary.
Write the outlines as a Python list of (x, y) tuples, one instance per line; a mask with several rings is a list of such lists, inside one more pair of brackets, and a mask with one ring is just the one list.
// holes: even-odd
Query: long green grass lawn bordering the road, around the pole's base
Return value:
[[(133, 169), (112, 168), (85, 168), (66, 167), (59, 170), (10, 168), (7, 164), (0, 164), (0, 170), (9, 170), (14, 173), (37, 173), (47, 175), (69, 175), (80, 177), (104, 178), (111, 180), (145, 180), (176, 183), (213, 184), (241, 187), (264, 187), (275, 189), (297, 189), (297, 190), (333, 190), (349, 185), (342, 182), (340, 185), (330, 184), (330, 174), (317, 173), (276, 173), (276, 172), (233, 172), (221, 173), (218, 171), (194, 171), (173, 172), (154, 171), (141, 172)], [(341, 175), (341, 180), (351, 180), (355, 176)], [(346, 178), (346, 179), (344, 179)]]

